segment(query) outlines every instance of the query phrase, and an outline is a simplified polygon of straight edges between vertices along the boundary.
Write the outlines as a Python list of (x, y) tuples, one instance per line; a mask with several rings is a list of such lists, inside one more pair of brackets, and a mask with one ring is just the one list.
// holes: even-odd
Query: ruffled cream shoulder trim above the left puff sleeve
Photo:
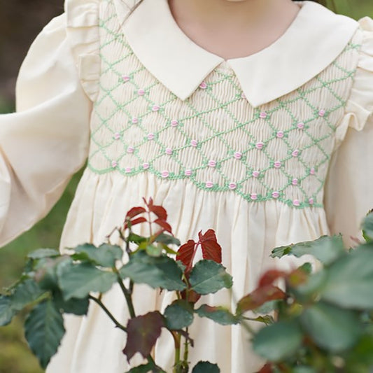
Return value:
[(67, 36), (78, 67), (80, 81), (92, 101), (99, 94), (100, 0), (66, 0)]

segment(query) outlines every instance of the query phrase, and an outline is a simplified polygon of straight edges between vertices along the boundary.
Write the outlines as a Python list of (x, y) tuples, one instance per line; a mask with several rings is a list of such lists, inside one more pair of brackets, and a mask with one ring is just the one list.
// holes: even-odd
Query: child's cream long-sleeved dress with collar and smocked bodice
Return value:
[[(272, 45), (229, 59), (178, 29), (167, 0), (67, 0), (38, 36), (17, 81), (17, 113), (0, 117), (0, 244), (45, 216), (87, 160), (61, 248), (101, 244), (125, 212), (153, 197), (181, 241), (216, 230), (229, 291), (204, 297), (231, 307), (255, 288), (272, 248), (323, 234), (358, 234), (373, 206), (373, 21), (300, 1)], [(348, 218), (346, 218), (348, 216)], [(139, 287), (138, 314), (169, 295)], [(122, 323), (118, 288), (104, 303)], [(91, 304), (66, 317), (49, 373), (119, 373), (125, 338)], [(197, 318), (200, 359), (221, 372), (254, 372), (238, 326)], [(208, 343), (206, 343), (208, 341)], [(155, 359), (171, 372), (164, 333)]]

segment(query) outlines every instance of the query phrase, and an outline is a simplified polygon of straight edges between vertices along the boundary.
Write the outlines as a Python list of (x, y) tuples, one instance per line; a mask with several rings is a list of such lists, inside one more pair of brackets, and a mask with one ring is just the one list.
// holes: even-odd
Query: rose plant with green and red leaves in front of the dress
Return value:
[[(197, 241), (190, 239), (180, 246), (167, 222), (167, 211), (152, 199), (144, 202), (145, 207), (130, 209), (122, 226), (99, 247), (83, 244), (69, 255), (48, 248), (30, 253), (19, 281), (1, 295), (0, 325), (26, 309), (25, 337), (42, 367), (57, 352), (64, 335), (62, 315), (85, 315), (90, 302), (95, 302), (127, 334), (123, 349), (127, 360), (135, 353), (146, 360), (128, 373), (164, 372), (152, 357), (162, 328), (174, 339), (173, 372), (189, 372), (193, 336), (188, 328), (196, 316), (246, 328), (254, 351), (267, 361), (261, 373), (369, 372), (373, 366), (372, 213), (363, 222), (365, 241), (356, 248), (344, 248), (340, 236), (275, 248), (273, 257), (311, 254), (323, 268), (311, 272), (307, 263), (288, 272), (269, 270), (231, 311), (199, 302), (203, 295), (232, 287), (215, 232), (199, 232)], [(148, 235), (134, 232), (140, 224), (148, 225)], [(115, 234), (120, 246), (111, 244)], [(180, 246), (177, 252), (176, 246)], [(199, 250), (203, 259), (196, 262)], [(127, 325), (115, 319), (101, 297), (114, 283), (127, 303)], [(132, 294), (139, 283), (174, 292), (174, 302), (163, 313), (137, 315)], [(263, 328), (253, 330), (253, 321), (263, 323)], [(192, 373), (199, 372), (220, 370), (216, 364), (200, 361), (192, 368)]]

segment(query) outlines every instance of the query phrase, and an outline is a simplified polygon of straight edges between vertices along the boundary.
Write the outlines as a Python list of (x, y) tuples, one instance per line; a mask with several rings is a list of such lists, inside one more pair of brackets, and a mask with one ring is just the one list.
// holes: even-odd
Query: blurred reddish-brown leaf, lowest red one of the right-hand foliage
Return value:
[(237, 313), (242, 314), (245, 311), (256, 309), (269, 300), (282, 300), (286, 294), (277, 286), (267, 285), (262, 288), (256, 288), (253, 292), (241, 298), (237, 304)]

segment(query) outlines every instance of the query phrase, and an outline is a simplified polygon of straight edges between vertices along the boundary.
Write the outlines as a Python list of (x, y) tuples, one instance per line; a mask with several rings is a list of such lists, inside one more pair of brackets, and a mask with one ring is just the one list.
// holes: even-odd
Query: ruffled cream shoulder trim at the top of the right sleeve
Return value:
[(361, 45), (360, 54), (346, 114), (337, 130), (339, 141), (344, 139), (349, 127), (361, 131), (373, 113), (373, 20), (364, 17), (359, 24), (353, 43)]

